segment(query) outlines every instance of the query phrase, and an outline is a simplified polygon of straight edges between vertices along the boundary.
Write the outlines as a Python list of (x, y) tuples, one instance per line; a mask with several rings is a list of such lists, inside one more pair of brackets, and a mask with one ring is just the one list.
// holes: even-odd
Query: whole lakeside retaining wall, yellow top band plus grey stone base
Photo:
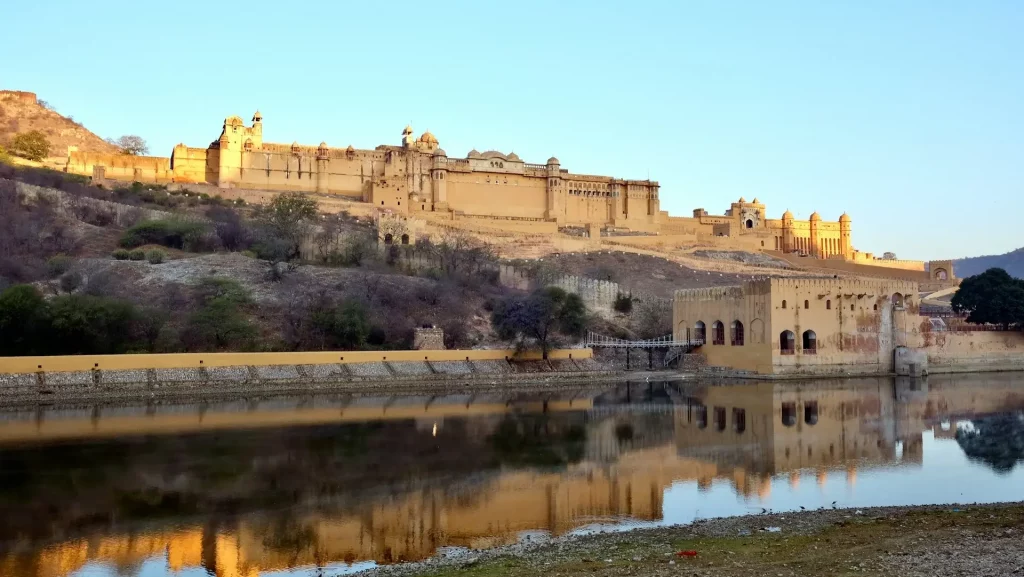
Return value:
[(0, 358), (0, 404), (288, 391), (398, 391), (612, 375), (589, 348)]

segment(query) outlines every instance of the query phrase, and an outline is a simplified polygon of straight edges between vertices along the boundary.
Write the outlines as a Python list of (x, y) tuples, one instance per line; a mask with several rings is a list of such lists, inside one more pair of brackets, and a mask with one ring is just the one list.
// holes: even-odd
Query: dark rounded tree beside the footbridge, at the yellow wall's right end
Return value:
[(547, 287), (526, 297), (511, 297), (498, 303), (490, 323), (502, 338), (515, 339), (521, 344), (535, 342), (547, 359), (559, 334), (583, 335), (587, 329), (587, 306), (575, 293)]

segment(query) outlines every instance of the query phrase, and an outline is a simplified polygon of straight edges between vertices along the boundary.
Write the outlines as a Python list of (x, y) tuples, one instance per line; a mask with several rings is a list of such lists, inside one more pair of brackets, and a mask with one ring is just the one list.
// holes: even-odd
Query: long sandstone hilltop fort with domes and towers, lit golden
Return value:
[(434, 223), (510, 233), (547, 234), (571, 229), (585, 236), (614, 237), (629, 247), (684, 245), (777, 252), (810, 257), (827, 266), (867, 264), (903, 271), (912, 280), (928, 279), (928, 264), (879, 258), (853, 246), (852, 219), (843, 214), (824, 220), (814, 212), (798, 220), (786, 210), (769, 218), (755, 198), (732, 202), (722, 214), (702, 208), (690, 216), (660, 209), (654, 180), (578, 174), (556, 157), (543, 164), (515, 153), (470, 151), (450, 157), (436, 136), (413, 128), (398, 145), (373, 150), (268, 142), (263, 116), (250, 124), (239, 116), (224, 119), (220, 135), (206, 148), (180, 143), (169, 158), (70, 151), (68, 172), (102, 181), (122, 180), (197, 187), (225, 198), (248, 195), (264, 202), (281, 192), (316, 195), (328, 208), (338, 202), (383, 209)]

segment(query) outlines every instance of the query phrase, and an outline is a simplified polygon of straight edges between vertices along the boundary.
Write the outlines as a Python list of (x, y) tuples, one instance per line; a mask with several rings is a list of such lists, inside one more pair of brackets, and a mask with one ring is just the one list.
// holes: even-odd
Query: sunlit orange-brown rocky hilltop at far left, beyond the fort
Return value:
[(39, 130), (50, 141), (50, 157), (68, 156), (68, 147), (92, 153), (118, 152), (117, 147), (42, 102), (33, 92), (0, 90), (0, 145), (19, 132)]

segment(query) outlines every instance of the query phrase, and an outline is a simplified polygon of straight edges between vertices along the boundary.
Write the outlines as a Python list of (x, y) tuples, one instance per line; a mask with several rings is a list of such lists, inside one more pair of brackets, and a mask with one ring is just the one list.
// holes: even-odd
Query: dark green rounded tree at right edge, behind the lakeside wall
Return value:
[(1024, 326), (1024, 281), (1002, 269), (989, 269), (964, 279), (951, 304), (953, 311), (968, 314), (969, 323)]

